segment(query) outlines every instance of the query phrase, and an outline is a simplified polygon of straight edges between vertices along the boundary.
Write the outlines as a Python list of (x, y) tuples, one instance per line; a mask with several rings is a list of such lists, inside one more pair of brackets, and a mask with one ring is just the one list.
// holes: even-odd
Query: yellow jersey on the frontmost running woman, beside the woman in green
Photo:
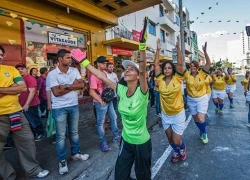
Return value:
[(161, 109), (167, 115), (176, 115), (184, 108), (184, 102), (181, 91), (183, 75), (175, 73), (170, 83), (166, 85), (166, 77), (162, 74), (156, 76), (159, 84)]

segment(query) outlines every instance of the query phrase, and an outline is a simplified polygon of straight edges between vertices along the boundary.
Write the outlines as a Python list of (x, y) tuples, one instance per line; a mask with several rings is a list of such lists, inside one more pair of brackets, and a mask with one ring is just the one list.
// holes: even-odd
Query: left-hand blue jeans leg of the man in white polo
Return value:
[(66, 149), (66, 123), (68, 112), (65, 108), (53, 109), (52, 116), (56, 124), (56, 151), (57, 160), (62, 161), (67, 158)]

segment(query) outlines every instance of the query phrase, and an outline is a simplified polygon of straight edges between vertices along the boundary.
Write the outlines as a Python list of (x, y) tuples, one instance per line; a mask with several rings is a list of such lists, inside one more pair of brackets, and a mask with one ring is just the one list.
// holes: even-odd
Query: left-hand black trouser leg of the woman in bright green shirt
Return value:
[(130, 179), (131, 168), (135, 160), (135, 146), (123, 139), (121, 140), (118, 158), (115, 163), (115, 180)]

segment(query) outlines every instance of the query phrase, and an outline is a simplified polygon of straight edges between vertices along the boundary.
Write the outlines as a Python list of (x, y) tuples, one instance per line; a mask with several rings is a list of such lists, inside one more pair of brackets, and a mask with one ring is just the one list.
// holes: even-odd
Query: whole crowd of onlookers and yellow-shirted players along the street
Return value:
[[(77, 90), (84, 88), (84, 82), (77, 68), (71, 67), (72, 61), (83, 65), (89, 72), (90, 90), (96, 113), (97, 133), (100, 149), (110, 150), (105, 138), (106, 114), (111, 123), (113, 142), (120, 143), (115, 165), (115, 179), (130, 179), (131, 168), (135, 163), (138, 180), (151, 179), (152, 144), (146, 126), (148, 101), (155, 107), (156, 115), (161, 118), (163, 129), (173, 148), (172, 162), (187, 158), (187, 145), (182, 139), (185, 129), (186, 113), (190, 111), (199, 129), (199, 139), (208, 143), (206, 114), (209, 100), (215, 105), (215, 112), (223, 114), (226, 94), (230, 107), (234, 107), (233, 94), (236, 90), (236, 76), (232, 68), (226, 71), (217, 68), (210, 72), (210, 58), (207, 43), (203, 46), (206, 64), (200, 68), (192, 61), (189, 70), (183, 67), (179, 42), (176, 44), (177, 64), (160, 63), (160, 40), (157, 41), (155, 62), (146, 71), (146, 35), (141, 35), (139, 43), (140, 61), (135, 63), (124, 60), (123, 76), (119, 80), (113, 72), (114, 65), (104, 56), (99, 56), (92, 66), (86, 59), (86, 52), (80, 49), (57, 53), (54, 67), (32, 68), (28, 73), (25, 64), (15, 67), (0, 65), (0, 177), (15, 178), (15, 170), (4, 159), (3, 147), (14, 142), (22, 168), (29, 177), (44, 178), (49, 174), (39, 166), (35, 156), (35, 141), (42, 140), (46, 131), (41, 121), (52, 111), (55, 121), (55, 144), (59, 174), (69, 172), (67, 166), (66, 136), (70, 140), (70, 159), (86, 161), (88, 154), (80, 148), (78, 122), (79, 105)], [(0, 46), (0, 63), (4, 60), (5, 50)], [(249, 90), (249, 72), (241, 81), (244, 94)], [(250, 108), (250, 105), (249, 105)], [(117, 111), (122, 118), (122, 133), (117, 127)], [(250, 113), (249, 124), (250, 127)]]

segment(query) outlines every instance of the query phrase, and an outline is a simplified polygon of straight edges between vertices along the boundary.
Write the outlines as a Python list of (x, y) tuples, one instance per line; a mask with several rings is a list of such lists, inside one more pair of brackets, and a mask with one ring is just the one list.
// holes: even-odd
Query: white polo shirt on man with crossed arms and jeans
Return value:
[[(51, 71), (46, 79), (46, 90), (51, 89), (54, 86), (73, 84), (76, 79), (81, 79), (81, 75), (77, 68), (69, 67), (68, 72), (65, 74), (60, 71), (58, 67)], [(78, 105), (77, 91), (70, 91), (69, 93), (55, 97), (53, 92), (51, 93), (52, 109), (58, 109), (63, 107), (70, 107)]]

